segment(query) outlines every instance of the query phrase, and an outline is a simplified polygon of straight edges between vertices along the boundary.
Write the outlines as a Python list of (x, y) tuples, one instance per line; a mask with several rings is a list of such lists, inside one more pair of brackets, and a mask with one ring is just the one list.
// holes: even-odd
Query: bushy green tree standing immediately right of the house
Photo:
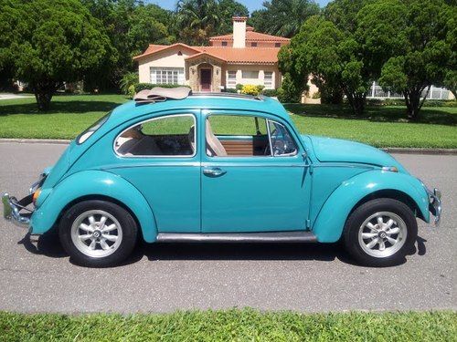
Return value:
[(338, 27), (338, 23), (349, 21), (345, 16), (354, 16), (350, 8), (357, 11), (358, 6), (357, 2), (336, 0), (326, 11), (335, 22), (326, 16), (309, 18), (292, 38), (291, 46), (283, 48), (291, 52), (279, 55), (279, 65), (282, 72), (299, 75), (296, 82), (305, 83), (312, 74), (312, 82), (322, 88), (323, 101), (339, 102), (344, 93), (354, 113), (361, 115), (371, 80), (380, 69), (367, 67), (370, 64), (357, 41), (356, 25), (353, 32)]

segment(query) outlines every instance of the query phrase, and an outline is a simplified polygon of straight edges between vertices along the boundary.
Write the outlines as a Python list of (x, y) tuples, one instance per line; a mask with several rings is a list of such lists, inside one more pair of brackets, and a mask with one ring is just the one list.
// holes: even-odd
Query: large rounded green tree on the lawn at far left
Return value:
[(48, 109), (64, 82), (80, 80), (112, 54), (101, 29), (77, 0), (4, 0), (0, 64), (13, 67), (15, 77), (33, 89), (38, 108)]

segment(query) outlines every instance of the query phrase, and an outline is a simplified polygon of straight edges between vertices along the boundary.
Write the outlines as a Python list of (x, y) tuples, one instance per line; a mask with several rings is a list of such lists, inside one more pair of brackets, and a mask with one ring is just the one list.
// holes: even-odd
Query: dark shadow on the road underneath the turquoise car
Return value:
[[(418, 236), (417, 247), (409, 255), (426, 254), (427, 240)], [(57, 233), (30, 236), (29, 233), (17, 244), (23, 244), (28, 252), (52, 258), (69, 256), (60, 245)], [(134, 264), (146, 256), (156, 260), (318, 260), (356, 264), (345, 252), (342, 244), (145, 244), (140, 243), (133, 254), (121, 265)], [(70, 260), (70, 262), (72, 262)], [(406, 259), (402, 261), (404, 264)]]

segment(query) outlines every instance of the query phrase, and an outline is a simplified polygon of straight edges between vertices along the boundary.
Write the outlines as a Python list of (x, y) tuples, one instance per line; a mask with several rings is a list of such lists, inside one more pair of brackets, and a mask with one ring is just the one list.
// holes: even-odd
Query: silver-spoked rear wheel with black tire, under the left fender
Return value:
[(77, 264), (106, 267), (121, 263), (132, 253), (137, 227), (121, 206), (85, 201), (69, 208), (58, 227), (60, 242)]

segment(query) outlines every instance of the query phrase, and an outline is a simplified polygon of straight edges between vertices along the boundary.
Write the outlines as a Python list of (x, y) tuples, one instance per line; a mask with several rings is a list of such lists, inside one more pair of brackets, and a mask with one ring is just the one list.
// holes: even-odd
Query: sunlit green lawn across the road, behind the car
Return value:
[[(51, 110), (37, 111), (35, 98), (0, 101), (0, 137), (73, 139), (96, 119), (125, 102), (122, 95), (59, 95)], [(404, 107), (368, 107), (355, 118), (347, 106), (287, 104), (303, 134), (356, 140), (377, 147), (457, 148), (457, 108), (423, 108), (408, 122)], [(221, 123), (221, 130), (230, 122)], [(226, 128), (226, 129), (227, 129)]]

